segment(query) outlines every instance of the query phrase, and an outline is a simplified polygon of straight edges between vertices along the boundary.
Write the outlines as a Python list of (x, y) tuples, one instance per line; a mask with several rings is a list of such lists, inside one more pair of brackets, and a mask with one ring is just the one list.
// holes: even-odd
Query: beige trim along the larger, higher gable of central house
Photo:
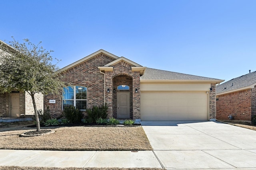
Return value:
[(92, 53), (91, 55), (88, 55), (78, 61), (76, 61), (75, 63), (72, 63), (72, 64), (69, 64), (68, 66), (65, 66), (64, 68), (61, 68), (60, 70), (58, 70), (58, 72), (62, 72), (64, 70), (69, 70), (70, 68), (73, 68), (81, 63), (84, 63), (100, 54), (104, 54), (104, 55), (107, 55), (108, 57), (111, 57), (113, 59), (118, 59), (119, 57), (117, 57), (116, 55), (113, 55), (111, 53), (108, 53), (107, 51), (103, 50), (103, 49), (100, 49), (99, 51), (96, 51), (95, 53)]

